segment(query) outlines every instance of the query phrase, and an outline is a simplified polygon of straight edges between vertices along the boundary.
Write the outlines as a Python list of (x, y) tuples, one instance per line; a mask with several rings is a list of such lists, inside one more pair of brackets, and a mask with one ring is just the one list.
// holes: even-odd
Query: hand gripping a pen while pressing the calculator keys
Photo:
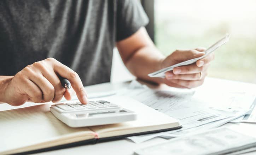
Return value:
[(30, 102), (58, 102), (63, 95), (71, 99), (69, 91), (62, 87), (59, 77), (70, 81), (81, 103), (88, 102), (87, 94), (78, 74), (53, 58), (28, 65), (2, 84), (1, 102), (19, 106)]

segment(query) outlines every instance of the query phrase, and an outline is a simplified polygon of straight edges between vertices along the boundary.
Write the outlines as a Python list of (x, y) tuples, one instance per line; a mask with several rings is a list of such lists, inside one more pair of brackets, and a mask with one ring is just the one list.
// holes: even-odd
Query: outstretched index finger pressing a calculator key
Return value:
[(66, 78), (70, 81), (72, 88), (76, 92), (77, 98), (82, 104), (88, 103), (85, 88), (83, 87), (80, 77), (75, 71), (71, 70), (71, 68), (63, 65), (57, 60), (56, 62), (54, 62), (53, 70), (57, 72), (61, 77)]

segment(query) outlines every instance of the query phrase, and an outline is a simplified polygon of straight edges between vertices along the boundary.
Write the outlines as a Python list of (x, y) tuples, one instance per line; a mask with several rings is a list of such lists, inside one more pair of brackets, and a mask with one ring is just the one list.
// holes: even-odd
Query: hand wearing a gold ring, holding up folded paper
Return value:
[[(203, 56), (204, 48), (192, 50), (176, 50), (162, 61), (162, 68), (177, 64), (193, 58)], [(171, 87), (194, 88), (202, 85), (207, 75), (207, 69), (210, 61), (214, 59), (214, 53), (198, 60), (196, 63), (186, 66), (180, 66), (165, 73), (164, 83)]]

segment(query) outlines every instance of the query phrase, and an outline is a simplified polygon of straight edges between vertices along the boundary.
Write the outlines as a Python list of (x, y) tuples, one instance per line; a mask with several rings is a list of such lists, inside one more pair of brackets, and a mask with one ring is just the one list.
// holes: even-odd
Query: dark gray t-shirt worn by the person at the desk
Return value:
[(0, 75), (53, 57), (84, 85), (109, 82), (116, 41), (147, 23), (139, 0), (1, 0)]

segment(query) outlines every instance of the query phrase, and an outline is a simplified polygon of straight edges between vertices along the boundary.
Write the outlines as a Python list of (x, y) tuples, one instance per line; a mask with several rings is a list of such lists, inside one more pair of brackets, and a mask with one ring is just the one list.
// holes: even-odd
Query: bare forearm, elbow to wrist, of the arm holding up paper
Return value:
[(147, 74), (161, 69), (164, 58), (165, 56), (155, 46), (145, 46), (134, 52), (125, 65), (137, 78), (162, 83), (162, 78), (150, 78)]

